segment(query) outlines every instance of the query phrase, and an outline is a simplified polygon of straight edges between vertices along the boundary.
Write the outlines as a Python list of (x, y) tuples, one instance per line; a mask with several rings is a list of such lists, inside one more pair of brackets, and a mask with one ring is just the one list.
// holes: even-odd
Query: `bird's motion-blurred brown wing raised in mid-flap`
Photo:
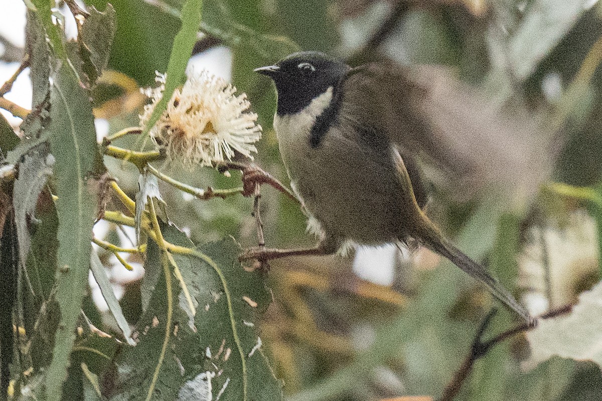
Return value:
[(397, 144), (405, 159), (434, 168), (429, 178), (459, 199), (492, 183), (501, 192), (533, 194), (550, 173), (550, 141), (538, 121), (520, 107), (502, 109), (444, 67), (367, 64), (343, 85), (343, 104), (358, 120)]

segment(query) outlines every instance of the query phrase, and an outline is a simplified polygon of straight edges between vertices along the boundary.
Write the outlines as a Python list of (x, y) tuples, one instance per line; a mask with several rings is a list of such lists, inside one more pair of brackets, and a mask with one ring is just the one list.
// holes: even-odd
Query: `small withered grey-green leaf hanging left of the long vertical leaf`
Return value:
[(14, 218), (19, 237), (19, 259), (24, 267), (31, 246), (28, 222), (36, 221), (34, 210), (38, 197), (52, 174), (54, 157), (47, 144), (33, 148), (19, 163), (19, 178), (13, 186)]

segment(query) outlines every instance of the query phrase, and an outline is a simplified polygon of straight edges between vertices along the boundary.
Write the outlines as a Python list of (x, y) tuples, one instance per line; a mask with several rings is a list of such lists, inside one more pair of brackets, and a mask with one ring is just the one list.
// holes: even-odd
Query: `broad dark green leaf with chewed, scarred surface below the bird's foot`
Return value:
[[(173, 226), (164, 227), (163, 233), (171, 243), (193, 246)], [(255, 329), (271, 296), (259, 272), (244, 271), (238, 253), (234, 240), (225, 239), (191, 248), (188, 255), (173, 254), (199, 305), (190, 319), (178, 281), (172, 273), (166, 280), (169, 260), (149, 243), (145, 268), (160, 274), (137, 325), (139, 342), (119, 358), (123, 375), (114, 400), (209, 399), (208, 391), (222, 401), (281, 399), (281, 384), (261, 352)]]

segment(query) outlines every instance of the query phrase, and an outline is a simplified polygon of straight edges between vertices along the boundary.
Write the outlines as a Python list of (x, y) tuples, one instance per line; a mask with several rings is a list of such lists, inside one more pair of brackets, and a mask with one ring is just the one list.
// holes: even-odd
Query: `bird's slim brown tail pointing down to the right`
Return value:
[(512, 296), (499, 281), (491, 277), (483, 266), (474, 262), (474, 260), (466, 256), (460, 249), (456, 248), (450, 240), (439, 233), (439, 230), (434, 227), (434, 225), (429, 228), (432, 228), (431, 230), (428, 230), (429, 233), (420, 236), (421, 242), (427, 246), (427, 248), (451, 260), (454, 265), (467, 272), (468, 275), (485, 284), (495, 298), (499, 299), (506, 307), (518, 313), (527, 323), (533, 322), (533, 318), (529, 312), (514, 299), (514, 296)]

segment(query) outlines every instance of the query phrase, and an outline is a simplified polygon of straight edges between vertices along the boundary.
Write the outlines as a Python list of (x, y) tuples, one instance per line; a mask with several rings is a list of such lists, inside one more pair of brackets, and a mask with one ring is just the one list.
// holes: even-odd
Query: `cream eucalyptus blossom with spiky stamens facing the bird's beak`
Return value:
[[(151, 117), (163, 97), (165, 75), (157, 73), (157, 88), (143, 91), (152, 103), (144, 106), (140, 126)], [(261, 126), (257, 114), (246, 112), (250, 103), (246, 94), (236, 96), (236, 88), (206, 71), (191, 76), (181, 90), (173, 93), (167, 109), (150, 131), (151, 138), (166, 152), (169, 161), (188, 168), (213, 165), (231, 159), (234, 151), (253, 159)]]

